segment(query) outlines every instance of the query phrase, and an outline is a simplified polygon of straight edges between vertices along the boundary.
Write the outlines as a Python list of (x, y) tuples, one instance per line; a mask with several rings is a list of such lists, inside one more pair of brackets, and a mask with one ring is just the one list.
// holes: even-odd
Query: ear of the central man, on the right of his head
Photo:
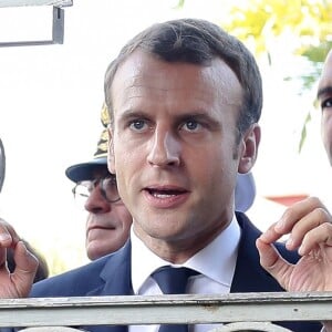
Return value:
[(240, 149), (239, 173), (248, 173), (256, 163), (258, 146), (260, 143), (260, 126), (255, 123), (245, 133), (241, 139), (242, 148)]

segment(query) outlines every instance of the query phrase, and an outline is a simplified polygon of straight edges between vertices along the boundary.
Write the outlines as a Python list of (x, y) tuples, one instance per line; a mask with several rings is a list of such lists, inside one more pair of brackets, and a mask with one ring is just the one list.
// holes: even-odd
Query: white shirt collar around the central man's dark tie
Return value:
[[(235, 272), (238, 246), (241, 230), (234, 216), (228, 227), (219, 234), (207, 247), (188, 259), (183, 266), (191, 268), (201, 274), (230, 287)], [(132, 282), (137, 294), (142, 284), (153, 271), (169, 262), (152, 252), (131, 230), (132, 240)], [(218, 256), (216, 256), (218, 252)], [(210, 259), (216, 257), (216, 259)]]

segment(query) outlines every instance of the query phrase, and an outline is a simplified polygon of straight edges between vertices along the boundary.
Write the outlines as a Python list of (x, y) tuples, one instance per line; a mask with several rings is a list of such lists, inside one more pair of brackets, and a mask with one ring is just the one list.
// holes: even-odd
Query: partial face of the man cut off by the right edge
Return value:
[(318, 89), (318, 101), (322, 110), (321, 133), (332, 165), (332, 51), (328, 54)]

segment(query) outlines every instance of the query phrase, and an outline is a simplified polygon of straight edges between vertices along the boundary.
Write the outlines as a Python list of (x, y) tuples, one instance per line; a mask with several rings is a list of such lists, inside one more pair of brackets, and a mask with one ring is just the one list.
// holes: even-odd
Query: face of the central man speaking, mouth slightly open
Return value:
[(117, 70), (111, 93), (110, 168), (134, 231), (153, 250), (163, 243), (198, 251), (234, 214), (246, 151), (246, 138), (236, 143), (240, 83), (218, 59), (200, 66), (136, 51)]

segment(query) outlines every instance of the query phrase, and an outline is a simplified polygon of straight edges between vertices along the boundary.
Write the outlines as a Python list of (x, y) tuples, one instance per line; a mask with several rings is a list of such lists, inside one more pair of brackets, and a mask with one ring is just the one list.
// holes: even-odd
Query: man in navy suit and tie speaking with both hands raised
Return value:
[[(243, 214), (235, 212), (237, 174), (250, 172), (256, 163), (262, 106), (260, 73), (241, 42), (207, 21), (155, 24), (110, 64), (105, 98), (112, 113), (108, 168), (133, 216), (131, 238), (113, 255), (34, 284), (30, 295), (160, 294), (170, 292), (165, 278), (188, 269), (190, 277), (179, 292), (274, 292), (295, 290), (298, 283), (302, 290), (318, 288), (312, 274), (295, 284), (290, 280), (305, 272), (318, 245), (317, 256), (332, 256), (332, 243), (322, 236), (332, 234), (331, 219), (315, 222), (299, 214), (261, 235)], [(291, 234), (287, 247), (273, 246), (284, 234)], [(303, 255), (300, 261), (297, 248)], [(8, 281), (1, 271), (0, 295), (27, 295), (34, 261), (21, 242), (17, 258), (25, 274), (18, 270)], [(315, 322), (280, 324), (293, 331), (321, 329)], [(193, 328), (201, 332), (210, 326)], [(137, 329), (151, 328), (129, 326), (131, 332)]]

